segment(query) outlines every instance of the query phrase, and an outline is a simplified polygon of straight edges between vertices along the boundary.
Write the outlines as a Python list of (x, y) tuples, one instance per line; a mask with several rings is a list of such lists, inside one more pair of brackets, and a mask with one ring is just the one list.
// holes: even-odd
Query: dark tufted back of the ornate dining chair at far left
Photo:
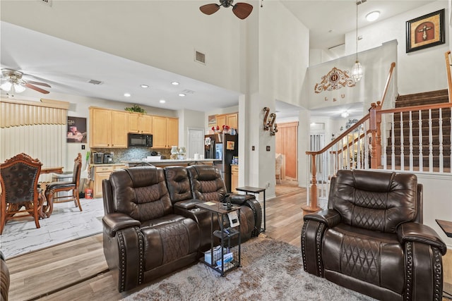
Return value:
[(0, 164), (2, 202), (33, 202), (37, 199), (41, 166), (39, 160), (27, 154), (18, 154)]

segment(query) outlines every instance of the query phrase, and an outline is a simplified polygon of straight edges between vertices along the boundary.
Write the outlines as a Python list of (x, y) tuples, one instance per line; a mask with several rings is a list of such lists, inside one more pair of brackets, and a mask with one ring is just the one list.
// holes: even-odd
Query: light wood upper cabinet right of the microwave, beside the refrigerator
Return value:
[(179, 119), (153, 116), (153, 148), (169, 149), (179, 145)]

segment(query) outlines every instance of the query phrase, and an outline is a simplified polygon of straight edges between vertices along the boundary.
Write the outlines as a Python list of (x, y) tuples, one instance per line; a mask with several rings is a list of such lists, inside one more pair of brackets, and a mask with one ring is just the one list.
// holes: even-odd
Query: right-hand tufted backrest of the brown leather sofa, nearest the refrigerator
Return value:
[(194, 199), (222, 201), (226, 195), (225, 182), (220, 169), (212, 165), (187, 166)]

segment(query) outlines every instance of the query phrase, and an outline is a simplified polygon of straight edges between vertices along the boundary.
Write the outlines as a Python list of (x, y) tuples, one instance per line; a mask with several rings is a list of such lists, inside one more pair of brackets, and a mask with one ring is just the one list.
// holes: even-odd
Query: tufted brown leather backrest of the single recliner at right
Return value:
[(396, 233), (400, 223), (414, 221), (417, 216), (417, 177), (410, 173), (340, 170), (332, 181), (331, 206), (347, 225)]

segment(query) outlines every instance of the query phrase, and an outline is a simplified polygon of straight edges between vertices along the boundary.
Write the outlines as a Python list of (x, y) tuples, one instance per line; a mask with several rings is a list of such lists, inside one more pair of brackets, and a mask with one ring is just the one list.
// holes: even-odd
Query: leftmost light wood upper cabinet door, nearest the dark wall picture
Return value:
[(112, 113), (105, 109), (90, 109), (90, 147), (110, 147)]

